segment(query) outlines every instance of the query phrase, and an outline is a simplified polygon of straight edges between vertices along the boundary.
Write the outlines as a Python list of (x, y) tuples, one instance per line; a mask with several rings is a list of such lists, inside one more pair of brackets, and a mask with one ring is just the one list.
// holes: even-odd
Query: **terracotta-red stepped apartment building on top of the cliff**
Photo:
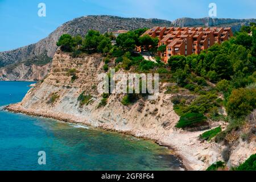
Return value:
[(165, 52), (158, 52), (165, 63), (174, 55), (199, 54), (215, 43), (222, 43), (233, 36), (230, 27), (153, 27), (143, 35), (159, 39), (158, 46), (166, 45)]

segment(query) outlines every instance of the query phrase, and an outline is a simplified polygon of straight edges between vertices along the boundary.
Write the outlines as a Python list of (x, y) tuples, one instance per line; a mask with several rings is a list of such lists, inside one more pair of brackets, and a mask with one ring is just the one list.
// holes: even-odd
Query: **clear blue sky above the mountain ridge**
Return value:
[[(46, 16), (38, 15), (39, 3), (46, 5)], [(0, 0), (0, 51), (36, 43), (80, 16), (204, 18), (210, 3), (217, 6), (215, 18), (256, 18), (255, 0)]]

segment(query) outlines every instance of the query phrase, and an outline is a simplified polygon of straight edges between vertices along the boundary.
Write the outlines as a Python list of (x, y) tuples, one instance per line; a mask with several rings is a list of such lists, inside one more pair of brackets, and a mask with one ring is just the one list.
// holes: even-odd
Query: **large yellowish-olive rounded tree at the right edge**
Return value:
[(256, 107), (256, 88), (234, 89), (227, 104), (228, 114), (233, 118), (245, 117)]

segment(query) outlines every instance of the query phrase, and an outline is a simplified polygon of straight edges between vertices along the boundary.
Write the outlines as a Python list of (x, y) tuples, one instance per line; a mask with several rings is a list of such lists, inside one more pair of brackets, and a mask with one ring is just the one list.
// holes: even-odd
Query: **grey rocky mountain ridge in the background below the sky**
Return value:
[[(109, 15), (82, 16), (64, 23), (38, 43), (0, 52), (0, 80), (39, 80), (45, 76), (50, 64), (46, 60), (52, 59), (57, 49), (56, 42), (62, 34), (83, 36), (90, 29), (104, 33), (154, 26), (222, 26), (232, 27), (233, 31), (237, 31), (242, 25), (250, 22), (256, 22), (256, 19), (180, 18), (171, 22), (162, 19), (121, 18)], [(33, 61), (36, 63), (34, 64)]]

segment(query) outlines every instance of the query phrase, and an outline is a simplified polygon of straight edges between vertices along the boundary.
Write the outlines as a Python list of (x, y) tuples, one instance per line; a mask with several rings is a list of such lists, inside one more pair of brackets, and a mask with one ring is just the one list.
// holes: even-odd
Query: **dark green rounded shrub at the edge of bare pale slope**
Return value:
[(184, 128), (184, 127), (195, 127), (198, 126), (200, 123), (204, 123), (206, 121), (206, 117), (200, 113), (188, 113), (184, 114), (179, 122), (176, 124), (177, 128)]

